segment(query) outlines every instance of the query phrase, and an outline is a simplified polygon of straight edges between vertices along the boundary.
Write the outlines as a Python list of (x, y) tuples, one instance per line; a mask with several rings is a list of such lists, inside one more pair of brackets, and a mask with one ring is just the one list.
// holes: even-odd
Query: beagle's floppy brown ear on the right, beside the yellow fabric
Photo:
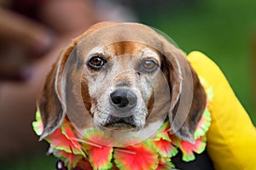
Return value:
[(162, 50), (172, 95), (168, 113), (172, 132), (193, 143), (195, 129), (207, 105), (207, 95), (183, 52), (166, 41)]

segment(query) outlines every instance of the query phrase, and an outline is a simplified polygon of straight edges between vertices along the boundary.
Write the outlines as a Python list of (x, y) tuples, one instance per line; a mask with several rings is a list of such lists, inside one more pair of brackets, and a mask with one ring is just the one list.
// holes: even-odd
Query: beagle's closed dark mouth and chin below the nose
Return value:
[(112, 130), (125, 130), (125, 129), (131, 129), (137, 126), (133, 120), (133, 116), (127, 116), (127, 117), (109, 116), (108, 123), (104, 127), (108, 127), (109, 129), (112, 129)]

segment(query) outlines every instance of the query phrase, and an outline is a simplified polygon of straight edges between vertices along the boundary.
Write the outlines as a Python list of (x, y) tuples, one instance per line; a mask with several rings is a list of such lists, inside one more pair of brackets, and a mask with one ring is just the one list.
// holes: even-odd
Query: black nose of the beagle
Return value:
[(117, 89), (110, 94), (112, 104), (118, 108), (125, 108), (131, 110), (132, 107), (137, 105), (136, 94), (128, 89)]

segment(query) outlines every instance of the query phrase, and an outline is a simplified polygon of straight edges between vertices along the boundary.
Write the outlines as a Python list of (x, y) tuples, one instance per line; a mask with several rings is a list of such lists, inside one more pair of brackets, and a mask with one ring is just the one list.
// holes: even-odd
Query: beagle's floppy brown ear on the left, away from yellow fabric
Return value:
[(44, 126), (40, 140), (53, 133), (57, 127), (60, 127), (66, 115), (61, 105), (61, 76), (67, 58), (75, 46), (76, 42), (71, 43), (61, 56), (56, 59), (46, 77), (44, 88), (38, 96), (37, 106)]

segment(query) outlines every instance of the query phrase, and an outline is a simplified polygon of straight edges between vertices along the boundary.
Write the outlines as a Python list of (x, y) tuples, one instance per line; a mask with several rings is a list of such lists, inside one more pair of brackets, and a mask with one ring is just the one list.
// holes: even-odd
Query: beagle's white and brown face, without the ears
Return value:
[(154, 103), (152, 84), (160, 82), (161, 64), (158, 51), (138, 42), (115, 42), (93, 48), (86, 59), (83, 77), (96, 126), (144, 127)]

